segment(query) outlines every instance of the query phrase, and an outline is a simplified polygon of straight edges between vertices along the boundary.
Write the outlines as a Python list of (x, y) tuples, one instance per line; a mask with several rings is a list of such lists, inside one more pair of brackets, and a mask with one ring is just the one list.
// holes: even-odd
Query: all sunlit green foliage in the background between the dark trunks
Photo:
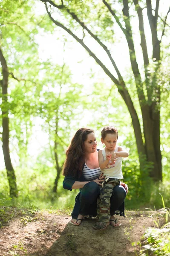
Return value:
[[(59, 0), (55, 2), (61, 4)], [(122, 40), (115, 36), (115, 21), (107, 8), (103, 6), (102, 1), (68, 0), (63, 2), (66, 7), (69, 6), (71, 12), (75, 12), (79, 19), (84, 21), (85, 26), (107, 45), (110, 52), (113, 49), (111, 43)], [(130, 157), (123, 161), (124, 182), (129, 186), (126, 200), (127, 209), (139, 209), (153, 205), (156, 209), (160, 208), (161, 202), (158, 200), (160, 192), (165, 204), (168, 205), (170, 203), (170, 186), (168, 186), (170, 180), (170, 107), (168, 104), (170, 102), (170, 70), (167, 64), (169, 63), (169, 48), (167, 47), (162, 53), (163, 63), (159, 66), (159, 73), (156, 77), (162, 93), (161, 153), (164, 180), (163, 183), (153, 184), (148, 178), (152, 163), (143, 159), (144, 169), (140, 172), (130, 114), (118, 94), (118, 88), (115, 88), (110, 79), (107, 79), (104, 74), (98, 76), (101, 70), (97, 74), (89, 74), (93, 79), (92, 87), (86, 89), (81, 84), (73, 82), (72, 72), (64, 61), (63, 64), (53, 64), (50, 58), (43, 62), (40, 59), (37, 35), (46, 37), (58, 31), (58, 28), (49, 20), (46, 12), (44, 15), (35, 14), (34, 3), (35, 1), (32, 0), (4, 0), (0, 6), (0, 47), (6, 57), (9, 72), (20, 80), (17, 81), (12, 78), (12, 74), (9, 75), (9, 95), (8, 104), (6, 104), (10, 118), (10, 151), (16, 166), (19, 197), (16, 201), (6, 201), (9, 188), (6, 172), (2, 171), (0, 172), (2, 205), (41, 209), (54, 207), (71, 211), (78, 190), (72, 192), (63, 190), (63, 177), (60, 177), (58, 193), (52, 193), (56, 177), (54, 153), (57, 152), (58, 163), (61, 167), (65, 160), (66, 147), (80, 123), (82, 125), (83, 116), (88, 116), (87, 126), (95, 129), (98, 142), (101, 128), (107, 124), (115, 125), (119, 131), (118, 143), (130, 150)], [(111, 3), (113, 2), (110, 1)], [(43, 3), (41, 4), (43, 5)], [(117, 17), (124, 26), (121, 7), (122, 1), (114, 5)], [(61, 14), (58, 11), (54, 15), (58, 18), (61, 17), (63, 23), (70, 26), (80, 38), (84, 36), (89, 38), (87, 32), (72, 20), (66, 9)], [(63, 38), (59, 36), (58, 38), (63, 41)], [(69, 41), (69, 38), (66, 41)], [(102, 55), (101, 52), (100, 54)], [(154, 65), (150, 65), (150, 70), (148, 69), (150, 82), (154, 79)], [(128, 68), (124, 75), (124, 81), (130, 90), (130, 96), (141, 120), (133, 74)], [(144, 86), (146, 96), (147, 84)], [(44, 134), (47, 136), (47, 141), (33, 155), (30, 154), (29, 146), (38, 143), (36, 128), (39, 129), (38, 133), (42, 134), (42, 141), (45, 140)], [(0, 134), (0, 136), (2, 135)], [(57, 150), (54, 150), (55, 143)], [(142, 158), (142, 156), (140, 157)]]

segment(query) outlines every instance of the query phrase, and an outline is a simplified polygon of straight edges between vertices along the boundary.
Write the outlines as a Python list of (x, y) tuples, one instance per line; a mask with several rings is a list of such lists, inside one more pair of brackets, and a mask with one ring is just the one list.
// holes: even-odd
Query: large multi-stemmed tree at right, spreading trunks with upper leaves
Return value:
[[(64, 29), (79, 44), (86, 49), (92, 58), (100, 65), (104, 72), (109, 76), (112, 82), (117, 86), (128, 111), (132, 118), (136, 144), (138, 149), (139, 161), (141, 166), (141, 176), (145, 168), (144, 159), (153, 163), (150, 169), (150, 177), (153, 180), (162, 179), (161, 150), (160, 150), (160, 103), (161, 86), (159, 67), (161, 65), (161, 46), (162, 38), (166, 30), (166, 21), (170, 9), (165, 17), (159, 17), (159, 0), (156, 0), (156, 8), (153, 9), (151, 0), (100, 0), (98, 1), (77, 1), (77, 0), (40, 0), (46, 6), (46, 12), (49, 18), (56, 26)], [(122, 8), (122, 13), (120, 13)], [(140, 70), (136, 58), (134, 32), (131, 9), (135, 8), (133, 15), (138, 17), (138, 31), (141, 38), (141, 52), (143, 54), (143, 69)], [(149, 54), (147, 40), (144, 29), (144, 9), (147, 9), (147, 17), (150, 24), (152, 55)], [(117, 10), (116, 10), (117, 9)], [(125, 77), (122, 76), (114, 57), (109, 50), (108, 45), (114, 42), (116, 36), (114, 32), (115, 24), (119, 27), (123, 38), (127, 42), (133, 81), (136, 85), (138, 104), (141, 110), (142, 120), (138, 117), (138, 111), (135, 108), (133, 98), (128, 88)], [(158, 37), (160, 29), (163, 26), (161, 37)], [(98, 58), (92, 46), (88, 46), (88, 38), (95, 40), (101, 50), (106, 53), (114, 67), (115, 72), (111, 72), (104, 63)], [(87, 39), (86, 39), (87, 38)], [(108, 43), (109, 42), (109, 43)], [(149, 57), (151, 55), (151, 58)], [(152, 62), (154, 63), (152, 64)], [(150, 72), (150, 65), (153, 65), (153, 73)], [(114, 75), (116, 73), (116, 75)], [(145, 78), (143, 78), (143, 74)], [(142, 124), (141, 124), (142, 123)]]

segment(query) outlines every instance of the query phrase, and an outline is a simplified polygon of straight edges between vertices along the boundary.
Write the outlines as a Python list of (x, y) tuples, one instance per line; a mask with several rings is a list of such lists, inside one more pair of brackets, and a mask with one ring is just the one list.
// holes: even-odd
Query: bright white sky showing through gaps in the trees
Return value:
[[(155, 1), (152, 1), (156, 3)], [(164, 18), (167, 14), (167, 10), (169, 9), (170, 1), (168, 0), (161, 0), (160, 1), (160, 13)], [(118, 7), (118, 6), (117, 6)], [(130, 9), (133, 12), (133, 9)], [(46, 9), (43, 3), (40, 1), (36, 1), (36, 8), (35, 13), (37, 15), (46, 14)], [(152, 43), (151, 43), (151, 33), (150, 33), (150, 26), (147, 19), (147, 9), (144, 9), (144, 28), (145, 28), (145, 35), (147, 38), (147, 46), (148, 52), (151, 57), (152, 54)], [(133, 15), (133, 13), (131, 13)], [(132, 20), (132, 27), (135, 31), (135, 27), (138, 27), (138, 18), (133, 17)], [(170, 24), (170, 15), (167, 17), (167, 23)], [(54, 33), (46, 33), (43, 29), (39, 29), (39, 34), (36, 35), (36, 42), (39, 46), (39, 58), (41, 61), (50, 60), (54, 64), (63, 64), (63, 61), (69, 66), (71, 73), (72, 73), (72, 81), (78, 84), (83, 84), (83, 93), (86, 96), (92, 92), (92, 86), (95, 82), (103, 81), (104, 83), (112, 84), (112, 81), (107, 77), (101, 67), (95, 63), (93, 58), (89, 56), (89, 54), (83, 49), (83, 47), (78, 44), (70, 35), (66, 34), (61, 28), (55, 27)], [(119, 29), (118, 25), (115, 24), (115, 43), (114, 44), (107, 44), (107, 47), (110, 49), (112, 56), (114, 57), (115, 63), (118, 66), (118, 69), (121, 71), (122, 74), (127, 73), (130, 69), (130, 57), (129, 51), (127, 47), (127, 42), (124, 38), (123, 33)], [(136, 29), (138, 31), (138, 29)], [(160, 34), (161, 37), (161, 34)], [(138, 52), (137, 54), (137, 61), (139, 67), (143, 65), (143, 57), (140, 47), (140, 35), (136, 34), (134, 37), (135, 43), (135, 51)], [(162, 41), (168, 40), (166, 37), (162, 39)], [(98, 44), (94, 41), (94, 39), (86, 39), (86, 44), (91, 46), (91, 49), (96, 53), (97, 56), (100, 56), (101, 61), (105, 64), (105, 66), (112, 71), (112, 73), (116, 76), (115, 71), (113, 70), (113, 66), (109, 61), (105, 52), (101, 52), (101, 48)], [(166, 67), (165, 67), (166, 68)], [(142, 74), (142, 73), (141, 73)], [(143, 74), (144, 76), (144, 74)], [(9, 83), (10, 87), (10, 83)], [(100, 115), (100, 113), (99, 113)], [(99, 116), (100, 118), (100, 116)], [(104, 118), (104, 116), (103, 116)], [(80, 127), (86, 127), (90, 122), (92, 122), (93, 116), (90, 111), (84, 111), (84, 114), (81, 116)], [(104, 120), (105, 121), (105, 120)], [(41, 131), (41, 122), (40, 118), (35, 119), (35, 127), (33, 128), (33, 135), (32, 139), (30, 140), (31, 143), (29, 144), (29, 154), (32, 157), (37, 157), (37, 154), (43, 148), (44, 145), (48, 144), (48, 135)], [(72, 124), (74, 127), (74, 124)], [(77, 130), (78, 128), (75, 128)], [(70, 140), (73, 134), (70, 134)], [(97, 137), (100, 138), (100, 133), (97, 132)], [(119, 141), (121, 142), (121, 137)], [(10, 142), (13, 143), (13, 142)], [(99, 145), (101, 146), (101, 145)], [(18, 157), (17, 154), (12, 153), (12, 163), (13, 166), (17, 166), (18, 164)], [(3, 151), (0, 148), (0, 169), (4, 169), (5, 164), (3, 160)]]

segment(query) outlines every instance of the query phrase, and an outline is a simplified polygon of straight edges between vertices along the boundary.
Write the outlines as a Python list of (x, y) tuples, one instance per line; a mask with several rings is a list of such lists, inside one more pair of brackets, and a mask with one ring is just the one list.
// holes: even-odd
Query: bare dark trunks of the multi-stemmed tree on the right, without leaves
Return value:
[[(44, 2), (43, 0), (41, 0)], [(57, 20), (55, 20), (52, 15), (51, 11), (49, 11), (47, 2), (49, 2), (50, 5), (52, 5), (54, 8), (57, 8), (61, 12), (67, 12), (69, 15), (72, 16), (72, 18), (79, 23), (79, 25), (82, 26), (83, 30), (86, 30), (86, 32), (89, 33), (89, 35), (94, 38), (98, 44), (105, 50), (107, 53), (109, 59), (111, 60), (113, 67), (115, 68), (115, 71), (118, 75), (118, 79), (113, 76), (113, 74), (107, 69), (107, 67), (100, 61), (100, 59), (97, 58), (97, 56), (89, 49), (89, 47), (84, 44), (83, 39), (78, 38), (68, 27), (64, 26)], [(130, 97), (130, 94), (127, 90), (126, 84), (124, 83), (124, 80), (121, 76), (121, 73), (119, 72), (115, 61), (113, 60), (109, 50), (107, 47), (100, 41), (97, 35), (93, 34), (92, 31), (88, 29), (88, 27), (85, 25), (83, 21), (81, 21), (78, 16), (73, 12), (70, 11), (68, 6), (64, 6), (63, 2), (62, 5), (57, 5), (53, 3), (53, 1), (47, 0), (45, 3), (46, 11), (50, 17), (50, 19), (59, 27), (64, 29), (67, 33), (72, 35), (73, 38), (75, 38), (78, 43), (80, 43), (84, 49), (89, 53), (92, 58), (95, 59), (95, 61), (101, 66), (101, 68), (104, 70), (104, 72), (109, 76), (109, 78), (115, 83), (115, 85), (118, 87), (118, 92), (121, 94), (122, 98), (124, 99), (124, 102), (127, 105), (127, 108), (130, 112), (130, 116), (132, 118), (133, 128), (135, 132), (135, 139), (137, 143), (138, 148), (138, 154), (139, 154), (139, 161), (140, 161), (140, 169), (141, 169), (141, 175), (143, 174), (144, 168), (146, 169), (146, 165), (144, 164), (144, 158), (146, 158), (147, 161), (153, 163), (153, 169), (150, 169), (150, 177), (153, 178), (153, 180), (161, 180), (161, 151), (160, 151), (160, 113), (159, 113), (159, 106), (157, 106), (157, 102), (153, 101), (153, 93), (157, 92), (157, 99), (158, 104), (160, 103), (160, 89), (156, 88), (156, 84), (154, 81), (149, 84), (150, 79), (148, 79), (148, 72), (147, 72), (147, 66), (149, 65), (149, 58), (147, 54), (147, 44), (146, 44), (146, 38), (144, 35), (144, 22), (143, 22), (143, 16), (142, 16), (142, 9), (138, 5), (138, 0), (133, 0), (135, 4), (135, 9), (138, 13), (139, 18), (139, 32), (141, 35), (141, 48), (143, 52), (143, 59), (144, 59), (144, 71), (145, 71), (145, 84), (147, 84), (147, 97), (145, 97), (144, 93), (144, 82), (141, 79), (141, 74), (138, 69), (138, 63), (136, 61), (135, 56), (135, 47), (133, 43), (133, 33), (131, 29), (130, 24), (130, 15), (129, 15), (129, 6), (128, 0), (123, 0), (123, 18), (126, 28), (124, 28), (124, 25), (122, 25), (119, 18), (116, 16), (116, 13), (112, 10), (111, 5), (103, 0), (103, 3), (105, 6), (107, 6), (109, 12), (112, 14), (112, 16), (115, 18), (116, 22), (118, 23), (119, 27), (121, 28), (122, 32), (124, 33), (127, 44), (129, 47), (129, 53), (130, 53), (130, 62), (131, 67), (133, 70), (134, 78), (135, 78), (135, 84), (136, 84), (136, 90), (138, 94), (138, 101), (141, 108), (142, 113), (142, 121), (143, 121), (143, 129), (144, 129), (144, 136), (142, 137), (141, 132), (141, 126), (139, 123), (138, 115), (136, 113), (136, 110), (134, 108), (132, 99)], [(160, 60), (160, 41), (158, 41), (157, 37), (157, 19), (158, 19), (158, 6), (159, 6), (159, 0), (156, 0), (156, 11), (155, 16), (152, 15), (152, 5), (151, 0), (146, 0), (147, 2), (147, 14), (148, 19), (150, 22), (150, 28), (152, 33), (152, 40), (153, 40), (153, 58), (155, 60)], [(154, 80), (154, 79), (153, 79)], [(144, 156), (144, 157), (143, 157)]]

